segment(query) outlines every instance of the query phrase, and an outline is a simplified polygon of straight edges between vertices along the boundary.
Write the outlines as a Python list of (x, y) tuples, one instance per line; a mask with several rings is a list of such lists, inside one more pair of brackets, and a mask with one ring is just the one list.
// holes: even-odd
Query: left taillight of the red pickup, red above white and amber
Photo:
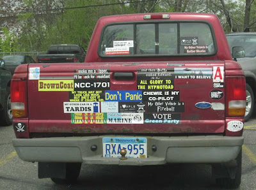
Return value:
[(14, 118), (27, 117), (27, 84), (26, 80), (12, 80), (11, 83), (11, 108)]

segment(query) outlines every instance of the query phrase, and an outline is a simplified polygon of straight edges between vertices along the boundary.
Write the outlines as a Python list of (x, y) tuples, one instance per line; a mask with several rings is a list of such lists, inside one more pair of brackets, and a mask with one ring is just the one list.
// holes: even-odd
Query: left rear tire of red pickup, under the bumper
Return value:
[(67, 163), (66, 177), (64, 179), (52, 177), (51, 180), (56, 184), (73, 184), (79, 177), (80, 170), (81, 163)]

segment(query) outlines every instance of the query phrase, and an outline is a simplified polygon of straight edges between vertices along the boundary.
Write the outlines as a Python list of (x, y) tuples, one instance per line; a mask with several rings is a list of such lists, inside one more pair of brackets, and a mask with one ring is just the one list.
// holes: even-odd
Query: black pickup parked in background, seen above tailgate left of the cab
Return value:
[(86, 51), (76, 44), (51, 45), (45, 55), (37, 55), (36, 62), (84, 62)]

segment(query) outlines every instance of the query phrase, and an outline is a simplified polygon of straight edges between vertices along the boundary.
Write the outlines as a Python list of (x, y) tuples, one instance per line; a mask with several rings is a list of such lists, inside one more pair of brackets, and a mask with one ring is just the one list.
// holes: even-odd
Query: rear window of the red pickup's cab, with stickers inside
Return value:
[(98, 52), (100, 57), (213, 55), (216, 43), (206, 22), (110, 24)]

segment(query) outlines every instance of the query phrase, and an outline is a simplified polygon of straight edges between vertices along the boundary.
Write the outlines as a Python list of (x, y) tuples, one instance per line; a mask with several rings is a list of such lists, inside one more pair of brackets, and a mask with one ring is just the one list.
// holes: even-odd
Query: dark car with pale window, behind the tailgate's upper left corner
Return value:
[(35, 63), (35, 60), (29, 55), (6, 55), (3, 57), (6, 68), (8, 68), (12, 75), (20, 64)]

